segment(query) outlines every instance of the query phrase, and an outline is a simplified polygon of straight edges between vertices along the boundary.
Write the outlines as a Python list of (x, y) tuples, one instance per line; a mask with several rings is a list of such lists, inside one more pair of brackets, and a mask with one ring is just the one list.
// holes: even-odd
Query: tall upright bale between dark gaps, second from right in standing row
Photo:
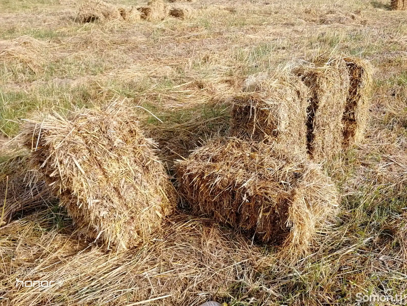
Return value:
[(307, 146), (314, 160), (330, 159), (342, 147), (349, 75), (344, 60), (317, 62), (298, 74), (310, 90), (307, 110)]

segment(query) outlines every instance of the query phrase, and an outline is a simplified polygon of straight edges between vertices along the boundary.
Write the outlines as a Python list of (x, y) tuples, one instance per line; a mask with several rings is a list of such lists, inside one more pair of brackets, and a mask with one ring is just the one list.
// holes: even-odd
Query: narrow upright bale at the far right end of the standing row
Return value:
[(356, 57), (344, 58), (350, 76), (350, 86), (343, 117), (344, 144), (358, 144), (363, 140), (372, 91), (372, 66)]

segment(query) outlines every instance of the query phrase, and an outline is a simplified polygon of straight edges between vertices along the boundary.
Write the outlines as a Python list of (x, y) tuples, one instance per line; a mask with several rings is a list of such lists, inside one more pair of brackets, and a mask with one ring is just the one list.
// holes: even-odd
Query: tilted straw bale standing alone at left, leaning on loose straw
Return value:
[(86, 235), (129, 248), (148, 239), (175, 205), (155, 143), (126, 107), (28, 120), (31, 163)]

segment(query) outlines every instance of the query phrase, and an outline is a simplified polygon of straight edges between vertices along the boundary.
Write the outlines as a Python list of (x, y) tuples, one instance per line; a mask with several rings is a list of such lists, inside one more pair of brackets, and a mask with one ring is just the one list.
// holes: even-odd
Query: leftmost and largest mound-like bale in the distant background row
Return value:
[(101, 0), (88, 0), (79, 7), (77, 18), (80, 22), (105, 22), (120, 18), (114, 5)]

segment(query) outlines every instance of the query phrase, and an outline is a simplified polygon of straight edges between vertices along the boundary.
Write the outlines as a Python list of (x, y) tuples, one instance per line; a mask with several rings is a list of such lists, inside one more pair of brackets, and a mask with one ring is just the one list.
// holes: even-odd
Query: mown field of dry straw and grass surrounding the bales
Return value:
[[(0, 190), (15, 189), (7, 162), (26, 153), (13, 137), (33, 115), (125, 101), (173, 174), (175, 159), (227, 135), (228, 98), (248, 75), (317, 56), (375, 67), (368, 129), (323, 162), (341, 191), (338, 219), (300, 259), (187, 212), (153, 242), (114, 253), (79, 235), (53, 197), (39, 201), (40, 190), (34, 203), (26, 189), (24, 202), (0, 197), (14, 210), (4, 204), (0, 219), (0, 305), (350, 305), (357, 293), (407, 294), (405, 11), (385, 0), (197, 0), (166, 3), (193, 9), (188, 18), (81, 23), (83, 2), (0, 1)], [(16, 279), (56, 283), (19, 288)]]

